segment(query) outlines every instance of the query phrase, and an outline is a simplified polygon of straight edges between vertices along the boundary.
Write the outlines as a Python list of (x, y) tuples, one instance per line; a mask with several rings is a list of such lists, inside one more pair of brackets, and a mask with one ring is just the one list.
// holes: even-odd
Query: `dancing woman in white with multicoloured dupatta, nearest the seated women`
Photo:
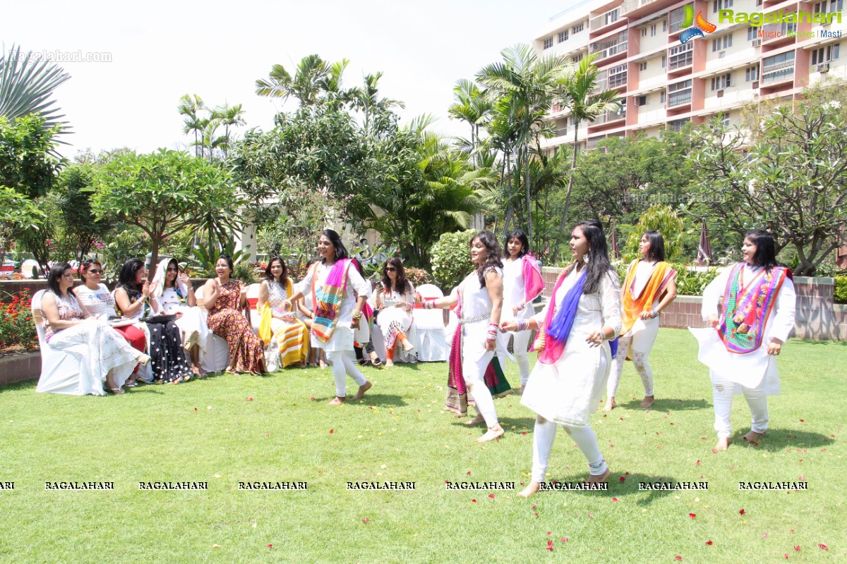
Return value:
[(287, 301), (290, 304), (307, 292), (313, 294), (314, 309), (309, 315), (313, 320), (312, 344), (326, 352), (335, 379), (335, 399), (329, 405), (340, 405), (347, 399), (347, 375), (359, 385), (353, 399), (361, 399), (373, 386), (357, 368), (353, 353), (353, 331), (362, 321), (370, 287), (347, 258), (347, 249), (332, 229), (324, 229), (318, 238), (318, 255), (322, 260), (309, 269)]

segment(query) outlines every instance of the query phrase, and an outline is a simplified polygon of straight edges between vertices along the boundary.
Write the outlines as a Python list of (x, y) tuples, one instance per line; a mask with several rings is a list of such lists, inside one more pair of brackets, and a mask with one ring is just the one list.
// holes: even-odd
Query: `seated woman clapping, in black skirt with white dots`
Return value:
[[(114, 289), (114, 301), (118, 304), (121, 315), (129, 319), (139, 320), (158, 313), (148, 304), (151, 288), (150, 282), (144, 280), (147, 271), (139, 259), (130, 259), (120, 268), (118, 286)], [(185, 360), (182, 349), (180, 328), (174, 321), (167, 323), (147, 322), (150, 331), (150, 356), (152, 357), (153, 383), (169, 382), (179, 384), (191, 379), (191, 366)]]

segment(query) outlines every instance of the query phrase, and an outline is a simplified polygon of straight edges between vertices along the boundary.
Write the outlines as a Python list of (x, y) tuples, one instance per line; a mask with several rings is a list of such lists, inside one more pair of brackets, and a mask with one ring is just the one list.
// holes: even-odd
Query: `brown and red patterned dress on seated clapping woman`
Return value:
[(220, 285), (218, 299), (208, 313), (208, 326), (215, 335), (224, 337), (230, 349), (230, 367), (258, 374), (264, 372), (264, 347), (253, 332), (250, 322), (238, 310), (240, 284), (230, 280)]

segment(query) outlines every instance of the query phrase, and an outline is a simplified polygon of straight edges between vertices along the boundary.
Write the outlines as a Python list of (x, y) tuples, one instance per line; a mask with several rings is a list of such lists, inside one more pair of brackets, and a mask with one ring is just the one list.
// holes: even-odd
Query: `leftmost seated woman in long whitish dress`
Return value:
[(42, 298), (45, 340), (49, 346), (73, 355), (80, 363), (84, 390), (105, 395), (102, 382), (113, 394), (124, 393), (121, 387), (136, 364), (147, 364), (150, 357), (130, 347), (118, 331), (103, 318), (91, 316), (75, 293), (74, 271), (67, 262), (50, 269), (50, 288)]

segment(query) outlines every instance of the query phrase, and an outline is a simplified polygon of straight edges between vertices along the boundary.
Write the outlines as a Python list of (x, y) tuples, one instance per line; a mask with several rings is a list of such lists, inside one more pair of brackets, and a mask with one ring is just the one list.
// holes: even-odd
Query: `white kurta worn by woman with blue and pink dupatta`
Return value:
[[(562, 300), (577, 282), (581, 272), (573, 269), (562, 281), (551, 302), (556, 304), (555, 313), (562, 307)], [(534, 319), (541, 326), (550, 308)], [(535, 363), (532, 375), (523, 392), (521, 403), (541, 417), (561, 424), (587, 425), (606, 389), (606, 379), (612, 367), (609, 342), (591, 347), (585, 339), (603, 326), (610, 326), (615, 334), (621, 330), (621, 287), (617, 274), (610, 271), (601, 278), (598, 292), (579, 298), (577, 315), (562, 356), (554, 364)]]

